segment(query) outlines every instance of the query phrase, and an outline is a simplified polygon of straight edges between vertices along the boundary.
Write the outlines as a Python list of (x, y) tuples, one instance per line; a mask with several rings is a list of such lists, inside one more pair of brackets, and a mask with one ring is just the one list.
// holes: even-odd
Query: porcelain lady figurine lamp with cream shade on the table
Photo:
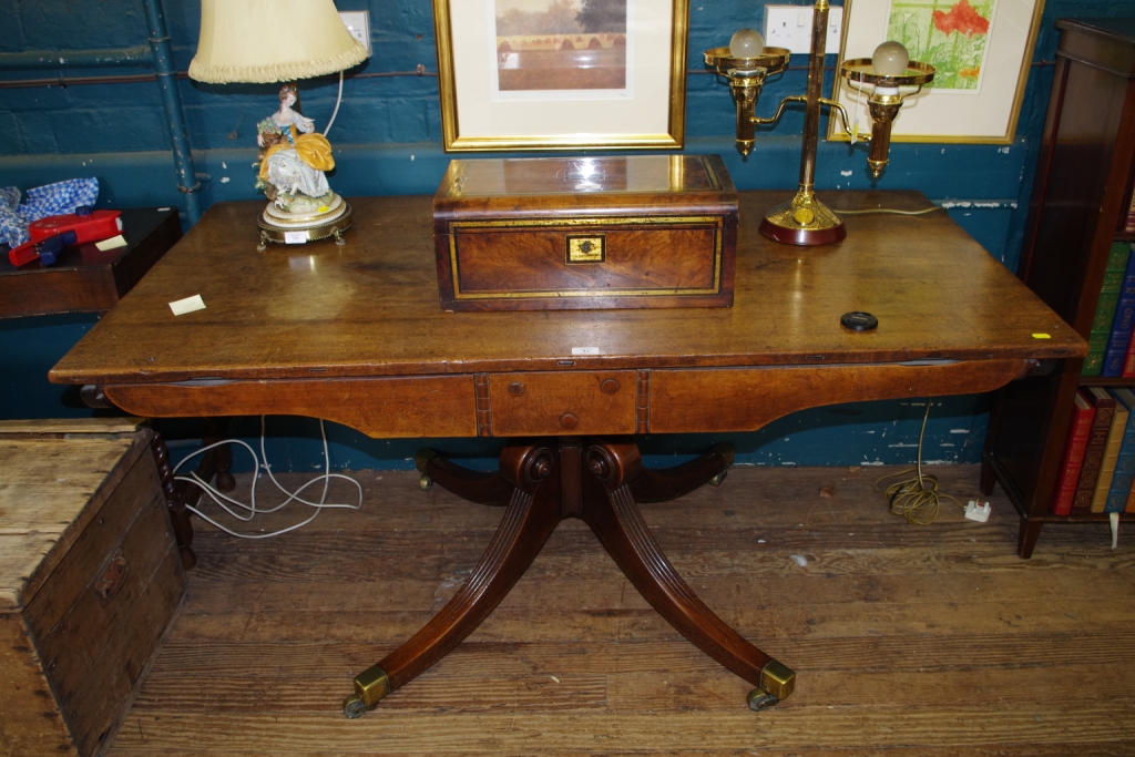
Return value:
[[(367, 59), (333, 0), (201, 0), (201, 37), (190, 78), (209, 84), (286, 82), (278, 110), (257, 124), (257, 188), (268, 205), (257, 219), (266, 242), (343, 243), (351, 207), (331, 191), (326, 134), (343, 98), (343, 72)], [(339, 101), (322, 134), (300, 112), (295, 79), (339, 74)]]

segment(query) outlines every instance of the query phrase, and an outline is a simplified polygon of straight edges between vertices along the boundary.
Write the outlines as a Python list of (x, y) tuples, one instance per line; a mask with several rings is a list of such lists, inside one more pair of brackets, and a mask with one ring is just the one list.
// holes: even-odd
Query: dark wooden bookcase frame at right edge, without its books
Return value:
[[(1135, 183), (1135, 19), (1063, 18), (1057, 28), (1060, 47), (1019, 276), (1087, 339), (1111, 245), (1135, 241), (1127, 226)], [(1077, 388), (1135, 386), (1135, 379), (1083, 377), (1083, 362), (1041, 363), (993, 398), (982, 490), (991, 494), (1000, 483), (1016, 506), (1022, 557), (1032, 556), (1045, 523), (1099, 522), (1107, 529), (1102, 513), (1050, 511)]]

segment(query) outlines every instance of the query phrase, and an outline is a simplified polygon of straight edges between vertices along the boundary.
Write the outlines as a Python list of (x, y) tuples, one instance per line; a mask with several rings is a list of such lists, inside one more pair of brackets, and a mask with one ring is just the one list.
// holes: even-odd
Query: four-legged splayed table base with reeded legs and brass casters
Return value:
[(343, 703), (360, 717), (442, 659), (508, 594), (565, 518), (582, 519), (620, 570), (671, 625), (756, 688), (754, 710), (775, 705), (796, 673), (746, 641), (705, 606), (650, 536), (638, 503), (666, 502), (704, 483), (720, 485), (733, 448), (717, 445), (673, 468), (642, 466), (632, 441), (589, 437), (540, 439), (505, 447), (495, 473), (471, 471), (432, 451), (418, 454), (424, 486), (437, 483), (474, 503), (506, 507), (501, 525), (469, 580), (409, 641), (354, 679)]

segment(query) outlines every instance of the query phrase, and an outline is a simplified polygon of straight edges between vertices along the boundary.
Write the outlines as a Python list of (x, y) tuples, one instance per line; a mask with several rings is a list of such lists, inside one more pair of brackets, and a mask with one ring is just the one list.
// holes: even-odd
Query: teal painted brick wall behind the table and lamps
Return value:
[[(810, 5), (810, 3), (797, 3)], [(838, 5), (838, 3), (836, 3)], [(448, 162), (440, 146), (440, 106), (434, 18), (429, 0), (339, 0), (343, 10), (367, 9), (375, 56), (353, 72), (330, 138), (338, 168), (333, 186), (344, 195), (432, 193)], [(687, 151), (721, 154), (740, 188), (796, 185), (802, 117), (789, 113), (760, 136), (748, 161), (732, 145), (732, 102), (728, 90), (704, 73), (700, 53), (724, 44), (733, 30), (763, 26), (764, 5), (741, 0), (690, 5), (687, 76)], [(166, 2), (167, 24), (178, 70), (192, 58), (199, 3)], [(880, 188), (915, 188), (939, 201), (977, 201), (956, 207), (951, 217), (1010, 270), (1020, 254), (1037, 142), (1051, 85), (1049, 65), (1059, 41), (1053, 26), (1065, 16), (1132, 16), (1135, 0), (1050, 0), (1010, 145), (897, 144)], [(123, 48), (144, 44), (140, 0), (9, 0), (0, 3), (0, 52)], [(798, 59), (797, 66), (804, 61)], [(834, 65), (830, 56), (829, 65)], [(414, 72), (427, 75), (390, 76)], [(0, 72), (2, 79), (50, 78), (60, 72)], [(137, 68), (72, 70), (66, 76), (136, 75)], [(360, 74), (362, 76), (360, 76)], [(371, 75), (382, 76), (371, 76)], [(805, 72), (787, 72), (766, 85), (759, 112), (804, 91)], [(831, 73), (829, 73), (830, 86)], [(301, 84), (304, 112), (326, 123), (334, 108), (334, 78)], [(178, 82), (193, 159), (202, 185), (202, 207), (253, 199), (250, 165), (255, 159), (254, 124), (276, 107), (272, 85), (202, 85)], [(901, 116), (900, 116), (901, 117)], [(74, 176), (96, 176), (100, 207), (178, 205), (176, 174), (165, 115), (153, 82), (6, 89), (0, 96), (0, 184), (28, 188)], [(844, 175), (848, 174), (849, 175)], [(821, 141), (819, 190), (866, 188), (865, 149)], [(44, 373), (93, 318), (18, 319), (0, 322), (0, 364), (5, 369), (0, 417), (82, 414), (75, 393), (47, 384)], [(12, 378), (16, 377), (16, 378)], [(881, 464), (915, 460), (920, 402), (836, 405), (798, 413), (762, 431), (735, 435), (738, 461), (754, 464)], [(975, 462), (985, 430), (983, 396), (935, 399), (924, 460)], [(242, 423), (242, 435), (258, 426)], [(336, 466), (409, 468), (420, 440), (375, 440), (339, 427), (329, 429)], [(654, 437), (645, 451), (657, 460), (683, 455), (712, 441), (695, 436)], [(488, 464), (496, 452), (476, 440), (430, 440), (457, 455)], [(318, 426), (299, 420), (270, 426), (269, 455), (276, 468), (310, 470), (319, 463)]]

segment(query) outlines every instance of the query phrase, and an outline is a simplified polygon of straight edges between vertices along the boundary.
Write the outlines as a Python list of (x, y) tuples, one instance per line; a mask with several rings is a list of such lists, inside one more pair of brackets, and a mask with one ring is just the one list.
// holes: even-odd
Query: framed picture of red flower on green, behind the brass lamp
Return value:
[[(1044, 0), (847, 0), (840, 62), (871, 58), (877, 44), (898, 39), (911, 60), (939, 69), (933, 84), (903, 101), (892, 142), (1011, 144), (1043, 10)], [(867, 94), (835, 77), (832, 99), (852, 123), (858, 113), (860, 134), (871, 132)], [(850, 140), (831, 115), (827, 138)]]

